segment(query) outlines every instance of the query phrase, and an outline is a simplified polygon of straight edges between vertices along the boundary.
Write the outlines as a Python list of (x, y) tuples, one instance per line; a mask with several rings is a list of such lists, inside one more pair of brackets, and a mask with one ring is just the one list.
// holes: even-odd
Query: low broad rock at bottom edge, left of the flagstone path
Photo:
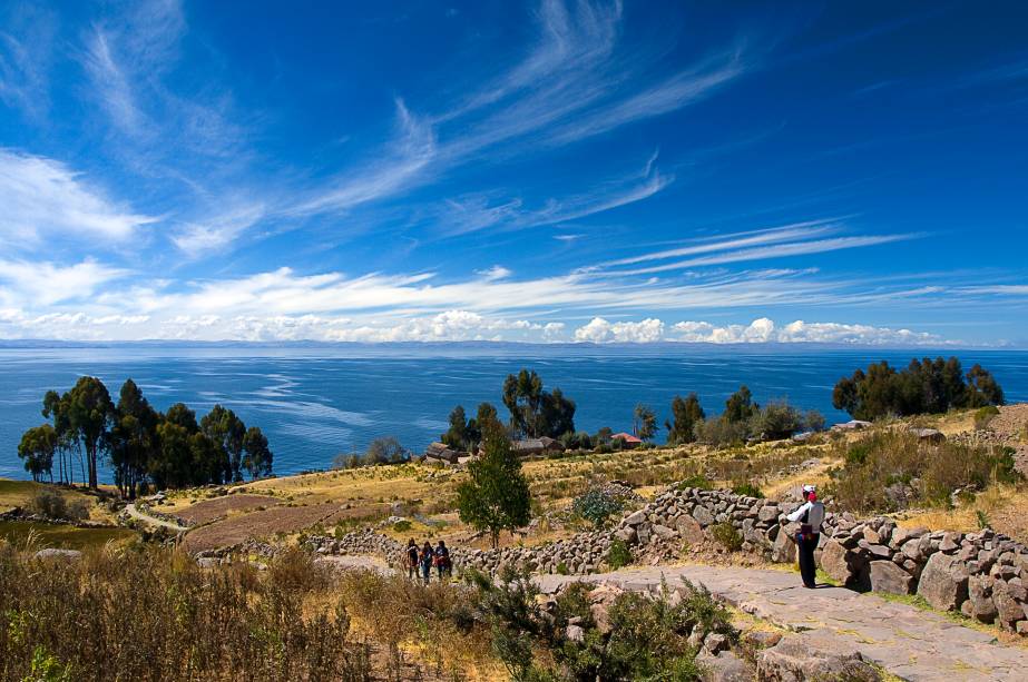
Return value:
[(802, 636), (789, 635), (756, 654), (756, 678), (762, 682), (878, 682), (882, 678), (860, 653), (828, 653), (810, 649)]

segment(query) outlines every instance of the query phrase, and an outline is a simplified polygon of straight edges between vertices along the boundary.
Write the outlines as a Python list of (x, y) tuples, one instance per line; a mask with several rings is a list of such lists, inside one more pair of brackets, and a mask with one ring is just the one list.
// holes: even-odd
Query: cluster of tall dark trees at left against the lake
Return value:
[[(50, 391), (42, 415), (51, 421), (22, 435), (18, 454), (39, 480), (75, 483), (76, 459), (81, 481), (97, 487), (97, 463), (107, 457), (121, 493), (135, 497), (140, 485), (158, 488), (242, 481), (271, 474), (273, 454), (256, 426), (249, 428), (221, 405), (199, 422), (183, 403), (166, 413), (155, 409), (133, 379), (115, 403), (104, 383), (81, 377), (67, 393)], [(56, 459), (56, 462), (55, 462)]]

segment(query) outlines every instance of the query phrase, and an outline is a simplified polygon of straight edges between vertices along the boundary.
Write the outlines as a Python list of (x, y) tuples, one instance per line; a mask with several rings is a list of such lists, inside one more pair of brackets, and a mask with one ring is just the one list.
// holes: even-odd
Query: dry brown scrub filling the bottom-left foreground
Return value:
[(169, 551), (43, 563), (0, 546), (0, 679), (369, 679), (327, 581), (300, 553), (262, 576)]

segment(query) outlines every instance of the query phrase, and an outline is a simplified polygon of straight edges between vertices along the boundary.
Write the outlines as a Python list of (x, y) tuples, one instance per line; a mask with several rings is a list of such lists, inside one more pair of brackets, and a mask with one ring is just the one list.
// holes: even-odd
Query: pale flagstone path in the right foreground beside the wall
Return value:
[(830, 586), (806, 590), (797, 574), (785, 571), (654, 566), (588, 576), (542, 575), (537, 582), (547, 592), (579, 580), (645, 592), (658, 591), (662, 579), (674, 584), (682, 577), (746, 613), (802, 632), (812, 648), (859, 651), (903, 680), (1028, 680), (1028, 649), (1000, 644), (940, 614), (873, 594)]

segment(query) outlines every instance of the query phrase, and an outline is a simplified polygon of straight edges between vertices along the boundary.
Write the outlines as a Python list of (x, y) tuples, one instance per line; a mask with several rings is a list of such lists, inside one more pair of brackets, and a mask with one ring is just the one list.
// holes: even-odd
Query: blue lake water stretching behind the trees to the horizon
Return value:
[[(0, 476), (28, 477), (18, 458), (21, 433), (43, 422), (50, 389), (67, 391), (90, 374), (117, 399), (131, 377), (159, 409), (183, 402), (197, 417), (215, 403), (261, 426), (285, 475), (330, 465), (334, 455), (363, 451), (379, 436), (396, 436), (421, 452), (447, 428), (450, 409), (469, 414), (482, 401), (506, 414), (503, 378), (521, 367), (559, 386), (578, 405), (575, 424), (628, 431), (637, 403), (653, 406), (659, 424), (675, 394), (697, 392), (708, 414), (746, 384), (754, 398), (787, 397), (820, 409), (829, 423), (848, 419), (832, 408), (839, 377), (870, 362), (905, 365), (914, 355), (957, 355), (965, 368), (992, 370), (1008, 402), (1028, 401), (1028, 352), (924, 352), (793, 347), (108, 347), (0, 348)], [(663, 441), (663, 428), (658, 433)], [(110, 474), (101, 470), (101, 478)]]

